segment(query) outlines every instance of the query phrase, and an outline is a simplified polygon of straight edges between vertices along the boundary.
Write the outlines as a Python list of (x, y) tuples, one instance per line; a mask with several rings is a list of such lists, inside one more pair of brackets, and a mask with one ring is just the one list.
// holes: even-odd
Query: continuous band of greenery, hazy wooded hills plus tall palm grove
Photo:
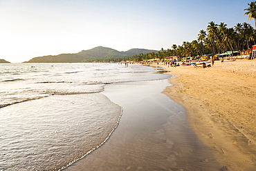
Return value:
[[(248, 19), (256, 19), (256, 2), (248, 3)], [(256, 21), (255, 21), (256, 28)], [(143, 61), (147, 59), (165, 59), (170, 56), (198, 57), (204, 54), (219, 54), (226, 51), (248, 50), (256, 44), (256, 30), (250, 24), (237, 23), (228, 28), (226, 23), (210, 21), (205, 30), (200, 30), (196, 40), (184, 41), (181, 46), (173, 44), (170, 49), (156, 51), (131, 49), (119, 52), (110, 48), (96, 47), (77, 54), (59, 54), (57, 56), (37, 57), (28, 62), (120, 62)]]

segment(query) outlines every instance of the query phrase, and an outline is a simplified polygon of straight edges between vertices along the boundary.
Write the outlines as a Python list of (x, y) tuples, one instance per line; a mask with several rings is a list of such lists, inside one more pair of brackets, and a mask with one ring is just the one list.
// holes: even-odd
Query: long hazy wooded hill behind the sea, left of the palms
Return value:
[(146, 54), (149, 52), (158, 52), (157, 50), (146, 49), (131, 49), (126, 52), (120, 52), (111, 48), (98, 46), (90, 50), (82, 50), (75, 54), (58, 54), (48, 55), (44, 57), (35, 57), (25, 63), (80, 63), (88, 59), (107, 59), (107, 58), (122, 58), (132, 57), (136, 54)]

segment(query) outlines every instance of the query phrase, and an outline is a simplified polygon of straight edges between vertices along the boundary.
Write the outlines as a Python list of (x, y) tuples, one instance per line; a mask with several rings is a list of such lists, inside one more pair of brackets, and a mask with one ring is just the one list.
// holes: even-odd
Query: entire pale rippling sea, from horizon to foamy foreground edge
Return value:
[(122, 106), (100, 92), (111, 83), (170, 78), (118, 63), (0, 64), (0, 170), (62, 170), (97, 149)]

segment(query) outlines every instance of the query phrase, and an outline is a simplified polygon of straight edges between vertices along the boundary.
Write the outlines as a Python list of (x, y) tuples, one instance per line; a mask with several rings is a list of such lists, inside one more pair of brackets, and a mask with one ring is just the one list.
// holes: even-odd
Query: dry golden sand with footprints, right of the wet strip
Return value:
[(256, 170), (256, 60), (167, 70), (174, 86), (164, 93), (185, 107), (190, 127), (223, 170)]

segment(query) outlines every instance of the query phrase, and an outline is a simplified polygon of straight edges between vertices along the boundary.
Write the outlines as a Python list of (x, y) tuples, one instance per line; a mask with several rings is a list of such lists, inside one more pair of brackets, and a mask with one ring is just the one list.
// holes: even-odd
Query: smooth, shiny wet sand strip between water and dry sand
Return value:
[(194, 134), (185, 109), (162, 94), (168, 80), (118, 83), (102, 94), (123, 108), (118, 128), (70, 170), (225, 170)]

